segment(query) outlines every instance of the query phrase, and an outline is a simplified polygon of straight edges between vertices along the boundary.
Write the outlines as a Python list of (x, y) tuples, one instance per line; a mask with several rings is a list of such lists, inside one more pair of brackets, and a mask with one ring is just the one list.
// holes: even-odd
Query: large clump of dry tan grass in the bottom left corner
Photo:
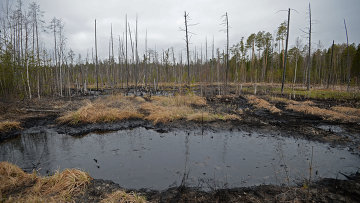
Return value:
[(87, 173), (77, 169), (40, 177), (27, 174), (11, 163), (0, 162), (0, 194), (11, 194), (6, 196), (6, 202), (68, 202), (82, 194), (91, 180)]

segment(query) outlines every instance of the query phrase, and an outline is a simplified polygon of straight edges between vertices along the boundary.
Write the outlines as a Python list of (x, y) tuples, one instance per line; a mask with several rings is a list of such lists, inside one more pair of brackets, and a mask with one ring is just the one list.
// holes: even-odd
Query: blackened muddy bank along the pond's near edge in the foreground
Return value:
[(260, 185), (254, 187), (214, 189), (176, 187), (164, 191), (127, 190), (112, 181), (93, 180), (76, 202), (98, 202), (118, 189), (136, 192), (149, 202), (359, 202), (360, 173), (348, 180), (322, 179), (309, 187)]

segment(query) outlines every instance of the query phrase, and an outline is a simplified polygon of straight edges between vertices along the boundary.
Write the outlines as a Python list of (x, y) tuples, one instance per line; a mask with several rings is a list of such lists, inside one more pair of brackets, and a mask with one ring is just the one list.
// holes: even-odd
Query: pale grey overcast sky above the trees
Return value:
[[(0, 0), (5, 1), (5, 0)], [(29, 1), (29, 0), (26, 0)], [(31, 1), (31, 0), (30, 0)], [(157, 50), (174, 47), (179, 52), (185, 50), (184, 33), (179, 27), (184, 26), (184, 11), (189, 12), (191, 23), (198, 23), (190, 28), (195, 33), (191, 46), (205, 49), (205, 38), (210, 47), (212, 37), (215, 46), (223, 48), (225, 33), (220, 30), (221, 16), (228, 12), (230, 44), (247, 38), (251, 33), (264, 30), (274, 33), (281, 22), (287, 19), (287, 12), (278, 12), (288, 8), (295, 9), (291, 14), (289, 44), (295, 43), (296, 37), (307, 41), (302, 30), (308, 27), (308, 1), (302, 0), (36, 0), (41, 10), (45, 11), (45, 20), (61, 18), (65, 23), (67, 47), (75, 52), (91, 54), (94, 46), (94, 19), (98, 21), (99, 55), (108, 55), (110, 24), (115, 36), (122, 35), (125, 27), (125, 14), (135, 28), (138, 15), (139, 48), (144, 48), (145, 31), (148, 32), (148, 47)], [(311, 1), (313, 19), (313, 47), (319, 40), (323, 47), (346, 42), (344, 18), (346, 19), (349, 41), (360, 42), (360, 0), (316, 0)], [(51, 35), (48, 36), (50, 38)], [(47, 44), (52, 43), (44, 36)], [(117, 38), (117, 37), (116, 37)], [(50, 38), (51, 39), (51, 38)], [(116, 43), (117, 45), (118, 43)], [(117, 49), (116, 49), (117, 50)], [(205, 51), (203, 51), (205, 53)]]

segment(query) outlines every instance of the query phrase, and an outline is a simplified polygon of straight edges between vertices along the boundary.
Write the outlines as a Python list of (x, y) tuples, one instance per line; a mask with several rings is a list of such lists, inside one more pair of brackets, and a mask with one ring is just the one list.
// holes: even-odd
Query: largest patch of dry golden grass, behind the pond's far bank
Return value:
[[(156, 123), (175, 120), (203, 121), (239, 120), (235, 115), (217, 115), (200, 110), (206, 107), (204, 97), (193, 94), (176, 96), (153, 96), (149, 101), (142, 97), (113, 95), (87, 101), (76, 111), (70, 111), (60, 118), (60, 123), (100, 123), (142, 118)], [(201, 115), (200, 115), (201, 114)]]

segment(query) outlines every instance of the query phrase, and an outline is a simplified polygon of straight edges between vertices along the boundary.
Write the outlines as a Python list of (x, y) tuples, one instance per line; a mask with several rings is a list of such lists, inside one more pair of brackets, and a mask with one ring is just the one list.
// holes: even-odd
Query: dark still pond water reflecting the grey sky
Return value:
[[(81, 138), (51, 130), (23, 134), (0, 145), (0, 161), (9, 161), (41, 174), (80, 168), (94, 178), (126, 188), (203, 189), (294, 184), (308, 178), (313, 149), (313, 179), (343, 178), (360, 167), (360, 157), (347, 149), (257, 132), (175, 131), (144, 128)], [(94, 160), (96, 159), (96, 161)]]

